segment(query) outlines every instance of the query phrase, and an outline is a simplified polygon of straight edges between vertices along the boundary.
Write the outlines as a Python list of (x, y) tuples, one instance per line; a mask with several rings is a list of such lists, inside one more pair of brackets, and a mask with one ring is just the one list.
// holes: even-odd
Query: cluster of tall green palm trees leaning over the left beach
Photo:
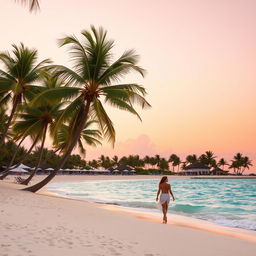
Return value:
[[(150, 107), (145, 99), (144, 87), (136, 83), (120, 83), (130, 72), (144, 76), (145, 71), (137, 65), (138, 55), (134, 50), (128, 50), (114, 60), (114, 41), (107, 38), (106, 30), (91, 26), (91, 30), (81, 32), (80, 40), (73, 35), (66, 36), (59, 40), (59, 45), (69, 46), (72, 69), (49, 65), (49, 59), (37, 63), (37, 51), (22, 43), (13, 45), (12, 53), (0, 54), (3, 65), (0, 70), (0, 106), (4, 122), (0, 146), (4, 148), (10, 131), (13, 142), (18, 142), (9, 165), (5, 163), (7, 168), (1, 178), (8, 175), (27, 137), (32, 139), (33, 146), (41, 141), (32, 177), (44, 161), (47, 135), (52, 141), (52, 148), (59, 152), (55, 170), (26, 189), (32, 192), (46, 185), (57, 174), (76, 147), (85, 154), (84, 143), (96, 146), (106, 139), (114, 145), (115, 129), (105, 105), (130, 112), (139, 119), (134, 105)], [(3, 113), (6, 106), (10, 107), (7, 119), (8, 111)], [(94, 125), (94, 129), (88, 129), (90, 125)], [(25, 161), (26, 157), (22, 159)]]

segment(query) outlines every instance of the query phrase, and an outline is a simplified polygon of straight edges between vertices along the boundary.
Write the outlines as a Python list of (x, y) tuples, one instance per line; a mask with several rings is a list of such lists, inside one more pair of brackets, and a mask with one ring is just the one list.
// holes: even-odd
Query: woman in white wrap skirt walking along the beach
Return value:
[(162, 211), (163, 211), (163, 224), (167, 223), (167, 210), (168, 210), (168, 205), (170, 202), (170, 195), (172, 196), (173, 201), (175, 200), (171, 185), (167, 183), (168, 178), (167, 176), (164, 176), (161, 181), (159, 182), (159, 187), (157, 191), (157, 196), (156, 196), (156, 201), (158, 201), (159, 194), (161, 192), (160, 198), (159, 198), (159, 203), (162, 206)]

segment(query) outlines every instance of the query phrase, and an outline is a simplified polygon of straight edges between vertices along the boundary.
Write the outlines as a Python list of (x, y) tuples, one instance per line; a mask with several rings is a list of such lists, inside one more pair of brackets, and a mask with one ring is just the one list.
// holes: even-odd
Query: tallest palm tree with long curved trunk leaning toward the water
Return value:
[(76, 146), (89, 117), (98, 122), (103, 136), (114, 145), (115, 129), (103, 107), (102, 98), (105, 103), (138, 117), (133, 107), (134, 103), (142, 108), (150, 106), (143, 97), (146, 91), (142, 86), (134, 83), (113, 84), (130, 71), (143, 75), (144, 70), (137, 66), (138, 56), (132, 50), (126, 51), (118, 60), (111, 63), (111, 49), (114, 42), (107, 40), (106, 35), (107, 32), (102, 28), (96, 30), (92, 26), (91, 32), (82, 31), (83, 42), (74, 36), (67, 36), (59, 41), (60, 46), (71, 46), (70, 53), (74, 69), (71, 70), (64, 66), (53, 66), (53, 69), (72, 86), (49, 89), (39, 94), (32, 101), (32, 105), (40, 103), (44, 97), (49, 100), (52, 98), (71, 99), (72, 102), (56, 122), (55, 130), (58, 130), (61, 124), (68, 120), (72, 140), (55, 170), (44, 180), (26, 190), (36, 192), (53, 179)]

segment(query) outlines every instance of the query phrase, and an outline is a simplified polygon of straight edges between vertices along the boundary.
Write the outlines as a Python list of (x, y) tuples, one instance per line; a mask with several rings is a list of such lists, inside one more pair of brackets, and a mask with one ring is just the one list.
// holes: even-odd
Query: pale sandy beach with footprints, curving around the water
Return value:
[[(57, 176), (54, 182), (127, 178), (155, 177)], [(196, 223), (162, 225), (112, 206), (19, 191), (11, 181), (0, 182), (0, 256), (256, 255), (252, 240), (200, 230)]]

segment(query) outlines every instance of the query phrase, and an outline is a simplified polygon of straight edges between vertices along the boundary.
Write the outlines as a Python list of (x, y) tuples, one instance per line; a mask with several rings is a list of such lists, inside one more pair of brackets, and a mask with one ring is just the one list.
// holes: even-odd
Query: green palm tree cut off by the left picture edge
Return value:
[(19, 106), (40, 91), (40, 87), (35, 86), (34, 83), (39, 80), (40, 72), (45, 65), (50, 63), (49, 59), (45, 59), (36, 64), (37, 50), (28, 49), (22, 43), (20, 46), (12, 46), (13, 57), (9, 52), (0, 53), (0, 61), (5, 67), (4, 70), (0, 69), (1, 101), (4, 104), (11, 102), (11, 112), (0, 138), (0, 147), (5, 141)]

